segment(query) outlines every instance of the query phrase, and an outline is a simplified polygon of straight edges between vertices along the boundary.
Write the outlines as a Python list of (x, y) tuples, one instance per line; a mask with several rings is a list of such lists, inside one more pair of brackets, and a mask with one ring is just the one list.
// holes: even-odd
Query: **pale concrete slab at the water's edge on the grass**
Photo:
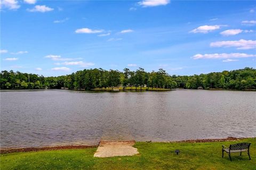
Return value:
[(138, 154), (135, 141), (101, 141), (94, 157), (133, 156)]

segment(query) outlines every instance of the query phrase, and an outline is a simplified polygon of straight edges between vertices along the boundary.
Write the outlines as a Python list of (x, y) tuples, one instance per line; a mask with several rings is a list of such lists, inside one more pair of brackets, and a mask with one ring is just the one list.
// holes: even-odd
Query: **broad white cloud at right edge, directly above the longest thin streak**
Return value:
[(256, 47), (256, 41), (240, 39), (239, 41), (222, 41), (210, 44), (211, 47), (237, 47), (238, 50), (248, 50)]

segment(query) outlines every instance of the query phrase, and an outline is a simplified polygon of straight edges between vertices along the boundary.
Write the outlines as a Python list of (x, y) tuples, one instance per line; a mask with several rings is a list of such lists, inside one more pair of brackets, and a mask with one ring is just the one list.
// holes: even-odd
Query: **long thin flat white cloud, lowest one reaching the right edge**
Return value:
[(196, 54), (191, 57), (194, 60), (197, 59), (230, 59), (230, 58), (248, 58), (254, 57), (256, 54), (246, 54), (246, 53), (215, 53), (215, 54)]

